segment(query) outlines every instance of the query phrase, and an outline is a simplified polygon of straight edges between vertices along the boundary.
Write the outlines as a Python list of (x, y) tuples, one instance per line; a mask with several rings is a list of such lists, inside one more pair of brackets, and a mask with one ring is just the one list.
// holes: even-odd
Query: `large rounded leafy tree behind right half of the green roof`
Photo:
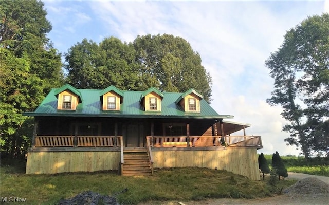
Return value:
[(137, 36), (133, 46), (142, 79), (148, 80), (147, 88), (155, 86), (161, 91), (185, 92), (193, 87), (210, 102), (211, 76), (202, 66), (199, 53), (194, 52), (185, 39), (169, 34), (148, 34)]

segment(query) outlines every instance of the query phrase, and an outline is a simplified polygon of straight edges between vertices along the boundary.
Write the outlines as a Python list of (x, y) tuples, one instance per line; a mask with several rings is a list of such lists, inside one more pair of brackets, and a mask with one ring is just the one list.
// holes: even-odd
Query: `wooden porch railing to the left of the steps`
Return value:
[[(118, 136), (120, 138), (122, 136)], [(116, 141), (120, 146), (120, 140)], [(36, 136), (35, 147), (111, 147), (115, 136)]]

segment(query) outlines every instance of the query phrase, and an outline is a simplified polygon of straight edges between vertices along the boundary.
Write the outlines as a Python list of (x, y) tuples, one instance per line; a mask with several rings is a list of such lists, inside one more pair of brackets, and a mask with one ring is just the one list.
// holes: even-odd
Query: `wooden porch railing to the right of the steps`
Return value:
[[(189, 145), (195, 146), (262, 146), (261, 136), (190, 136)], [(187, 147), (187, 137), (147, 136), (153, 147)]]

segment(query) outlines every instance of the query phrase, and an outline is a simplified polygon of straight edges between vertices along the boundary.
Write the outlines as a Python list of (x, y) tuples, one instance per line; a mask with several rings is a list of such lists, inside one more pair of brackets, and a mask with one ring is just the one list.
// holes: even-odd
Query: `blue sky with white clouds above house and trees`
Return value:
[[(307, 17), (329, 11), (326, 1), (58, 1), (45, 0), (52, 24), (48, 38), (62, 54), (84, 38), (172, 34), (187, 40), (212, 76), (211, 106), (231, 121), (251, 124), (264, 154), (300, 150), (287, 145), (280, 106), (269, 106), (273, 79), (265, 61), (283, 43), (287, 30)], [(243, 133), (236, 133), (243, 135)]]

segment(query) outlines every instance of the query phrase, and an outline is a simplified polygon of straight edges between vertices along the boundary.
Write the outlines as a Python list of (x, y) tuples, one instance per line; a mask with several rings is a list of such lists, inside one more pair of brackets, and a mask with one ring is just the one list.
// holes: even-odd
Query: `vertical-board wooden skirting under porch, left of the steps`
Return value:
[(118, 170), (120, 152), (28, 152), (26, 174)]

